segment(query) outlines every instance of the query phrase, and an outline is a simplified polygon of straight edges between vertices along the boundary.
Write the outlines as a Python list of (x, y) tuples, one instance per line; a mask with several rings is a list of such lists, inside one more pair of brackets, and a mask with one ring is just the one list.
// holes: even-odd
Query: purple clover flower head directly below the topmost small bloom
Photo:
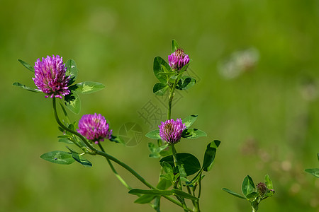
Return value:
[(161, 122), (159, 127), (159, 136), (161, 139), (169, 144), (174, 144), (181, 140), (181, 134), (186, 129), (185, 124), (181, 122), (181, 119), (167, 120), (166, 122)]

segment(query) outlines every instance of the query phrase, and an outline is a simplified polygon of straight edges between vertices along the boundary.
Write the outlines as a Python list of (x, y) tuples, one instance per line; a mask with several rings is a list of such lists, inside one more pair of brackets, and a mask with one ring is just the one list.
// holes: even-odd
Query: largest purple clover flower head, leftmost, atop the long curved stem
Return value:
[(47, 56), (35, 61), (34, 73), (32, 78), (35, 86), (37, 86), (43, 93), (47, 94), (45, 98), (60, 98), (70, 93), (67, 83), (69, 83), (69, 76), (65, 76), (67, 67), (63, 64), (62, 57)]

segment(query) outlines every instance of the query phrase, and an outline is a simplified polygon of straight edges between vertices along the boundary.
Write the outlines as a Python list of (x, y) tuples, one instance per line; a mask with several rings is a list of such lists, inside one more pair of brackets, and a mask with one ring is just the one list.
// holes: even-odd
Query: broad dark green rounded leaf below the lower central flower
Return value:
[[(186, 172), (186, 175), (194, 175), (196, 172), (201, 170), (201, 163), (199, 163), (198, 159), (189, 153), (177, 153), (177, 165), (184, 165), (184, 170)], [(159, 163), (167, 162), (169, 165), (174, 167), (174, 160), (173, 155), (168, 155), (161, 160), (159, 160)]]

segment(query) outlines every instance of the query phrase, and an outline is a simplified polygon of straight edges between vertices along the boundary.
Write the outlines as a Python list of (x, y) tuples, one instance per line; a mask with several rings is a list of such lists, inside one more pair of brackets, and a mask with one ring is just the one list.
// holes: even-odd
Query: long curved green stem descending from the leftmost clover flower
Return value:
[[(86, 141), (86, 139), (81, 134), (79, 134), (77, 131), (73, 131), (72, 129), (69, 129), (69, 128), (67, 128), (67, 126), (62, 124), (62, 122), (60, 121), (59, 117), (57, 116), (57, 107), (56, 107), (55, 98), (53, 98), (53, 100), (52, 100), (52, 105), (53, 105), (53, 111), (54, 111), (54, 114), (55, 114), (55, 120), (57, 121), (57, 124), (59, 124), (62, 127), (62, 129), (65, 129), (66, 131), (69, 131), (70, 133), (72, 133), (72, 134), (78, 136), (80, 139), (82, 139), (82, 141), (86, 144), (86, 146), (88, 148), (91, 149), (91, 151), (94, 152), (94, 154), (101, 155), (104, 158), (108, 158), (109, 160), (113, 160), (113, 162), (117, 163), (118, 165), (121, 165), (121, 167), (125, 168), (125, 170), (128, 170), (128, 172), (130, 172), (132, 175), (134, 175), (136, 178), (138, 178), (140, 180), (140, 182), (145, 184), (147, 187), (149, 187), (150, 189), (158, 190), (156, 187), (153, 187), (152, 184), (147, 182), (143, 177), (138, 175), (138, 173), (135, 172), (135, 170), (133, 170), (131, 167), (129, 167), (125, 163), (121, 162), (120, 160), (114, 158), (113, 156), (108, 155), (108, 153), (104, 153), (103, 151), (97, 150), (96, 148), (91, 146), (91, 144), (88, 141)], [(178, 201), (172, 199), (171, 197), (169, 197), (169, 196), (163, 196), (163, 197), (165, 199), (169, 200), (169, 201), (172, 201), (172, 203), (177, 204), (178, 206), (184, 208), (184, 206), (181, 203), (179, 203)], [(189, 208), (187, 208), (187, 210), (191, 211), (191, 209), (189, 209)]]

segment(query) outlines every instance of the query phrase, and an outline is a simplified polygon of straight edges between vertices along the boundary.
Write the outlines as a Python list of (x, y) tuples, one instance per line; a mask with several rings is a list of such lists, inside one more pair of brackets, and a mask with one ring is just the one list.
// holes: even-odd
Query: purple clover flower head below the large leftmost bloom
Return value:
[(104, 139), (111, 139), (112, 135), (112, 130), (109, 129), (105, 117), (96, 113), (84, 114), (79, 119), (79, 129), (77, 131), (96, 144), (99, 141), (104, 141)]

